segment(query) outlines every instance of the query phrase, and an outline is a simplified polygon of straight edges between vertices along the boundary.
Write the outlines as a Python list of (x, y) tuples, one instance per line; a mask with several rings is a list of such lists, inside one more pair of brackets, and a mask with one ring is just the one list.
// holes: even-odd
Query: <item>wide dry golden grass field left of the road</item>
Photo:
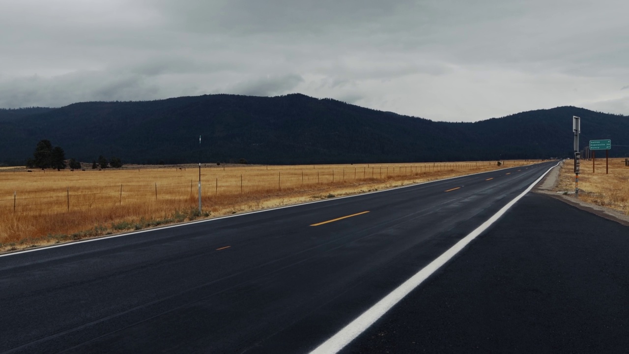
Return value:
[(0, 250), (138, 230), (338, 195), (364, 193), (535, 161), (201, 168), (103, 171), (0, 170)]

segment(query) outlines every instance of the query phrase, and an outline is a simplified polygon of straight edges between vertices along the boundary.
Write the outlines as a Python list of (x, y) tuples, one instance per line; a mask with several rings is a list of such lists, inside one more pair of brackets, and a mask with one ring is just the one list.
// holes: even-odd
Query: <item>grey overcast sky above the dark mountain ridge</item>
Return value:
[(0, 107), (303, 93), (476, 121), (629, 115), (626, 0), (0, 0)]

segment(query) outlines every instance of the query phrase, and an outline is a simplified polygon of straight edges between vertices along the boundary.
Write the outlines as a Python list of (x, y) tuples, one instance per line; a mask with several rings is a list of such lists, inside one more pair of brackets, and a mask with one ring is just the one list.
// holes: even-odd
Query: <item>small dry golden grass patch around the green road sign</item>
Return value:
[[(605, 158), (582, 160), (579, 171), (579, 200), (594, 203), (629, 214), (629, 167), (624, 158), (610, 159), (609, 174), (605, 173)], [(557, 191), (574, 193), (574, 161), (565, 161), (560, 171)]]

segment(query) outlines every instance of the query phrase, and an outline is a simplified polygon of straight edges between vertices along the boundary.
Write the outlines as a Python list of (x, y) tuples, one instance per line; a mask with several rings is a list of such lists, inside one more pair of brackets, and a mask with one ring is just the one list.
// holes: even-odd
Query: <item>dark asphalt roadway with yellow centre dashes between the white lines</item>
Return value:
[(553, 164), (1, 256), (0, 351), (307, 352)]

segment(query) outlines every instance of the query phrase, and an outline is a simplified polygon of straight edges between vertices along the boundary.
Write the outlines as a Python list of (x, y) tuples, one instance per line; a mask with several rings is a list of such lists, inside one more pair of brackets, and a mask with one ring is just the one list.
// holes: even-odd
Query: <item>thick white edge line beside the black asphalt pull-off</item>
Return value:
[(321, 343), (321, 345), (315, 348), (315, 350), (311, 351), (310, 354), (338, 353), (338, 351), (342, 350), (343, 347), (348, 345), (357, 336), (359, 336), (360, 333), (363, 333), (367, 328), (369, 328), (369, 326), (374, 324), (394, 305), (398, 304), (400, 300), (402, 300), (406, 295), (408, 295), (424, 280), (426, 280), (426, 278), (430, 277), (432, 273), (435, 273), (435, 271), (437, 271), (442, 265), (452, 259), (455, 254), (459, 253), (461, 249), (464, 249), (467, 244), (469, 244), (473, 239), (475, 239), (483, 231), (485, 231), (487, 227), (496, 222), (496, 220), (498, 220), (507, 210), (509, 210), (509, 208), (513, 207), (513, 205), (518, 202), (518, 200), (520, 200), (526, 195), (526, 193), (532, 190), (533, 186), (537, 185), (537, 183), (541, 181), (542, 178), (544, 178), (544, 176), (546, 176), (546, 174), (550, 172), (551, 169), (557, 167), (558, 165), (559, 163), (549, 168), (548, 171), (542, 174), (542, 176), (540, 176), (540, 178), (533, 182), (532, 185), (528, 186), (525, 191), (520, 193), (518, 197), (513, 198), (511, 202), (507, 203), (507, 205), (504, 205), (504, 207), (498, 210), (496, 214), (490, 217), (486, 222), (483, 222), (481, 226), (477, 227), (474, 231), (463, 237), (454, 246), (445, 251), (441, 256), (438, 256), (435, 260), (431, 261), (430, 264), (422, 268), (420, 271), (418, 271), (418, 273), (413, 275), (413, 277), (406, 280), (406, 282), (399, 285), (399, 287), (386, 295), (382, 300), (376, 302), (375, 305), (370, 307), (370, 309), (363, 312), (350, 324), (338, 331), (337, 334), (331, 336), (330, 339)]

